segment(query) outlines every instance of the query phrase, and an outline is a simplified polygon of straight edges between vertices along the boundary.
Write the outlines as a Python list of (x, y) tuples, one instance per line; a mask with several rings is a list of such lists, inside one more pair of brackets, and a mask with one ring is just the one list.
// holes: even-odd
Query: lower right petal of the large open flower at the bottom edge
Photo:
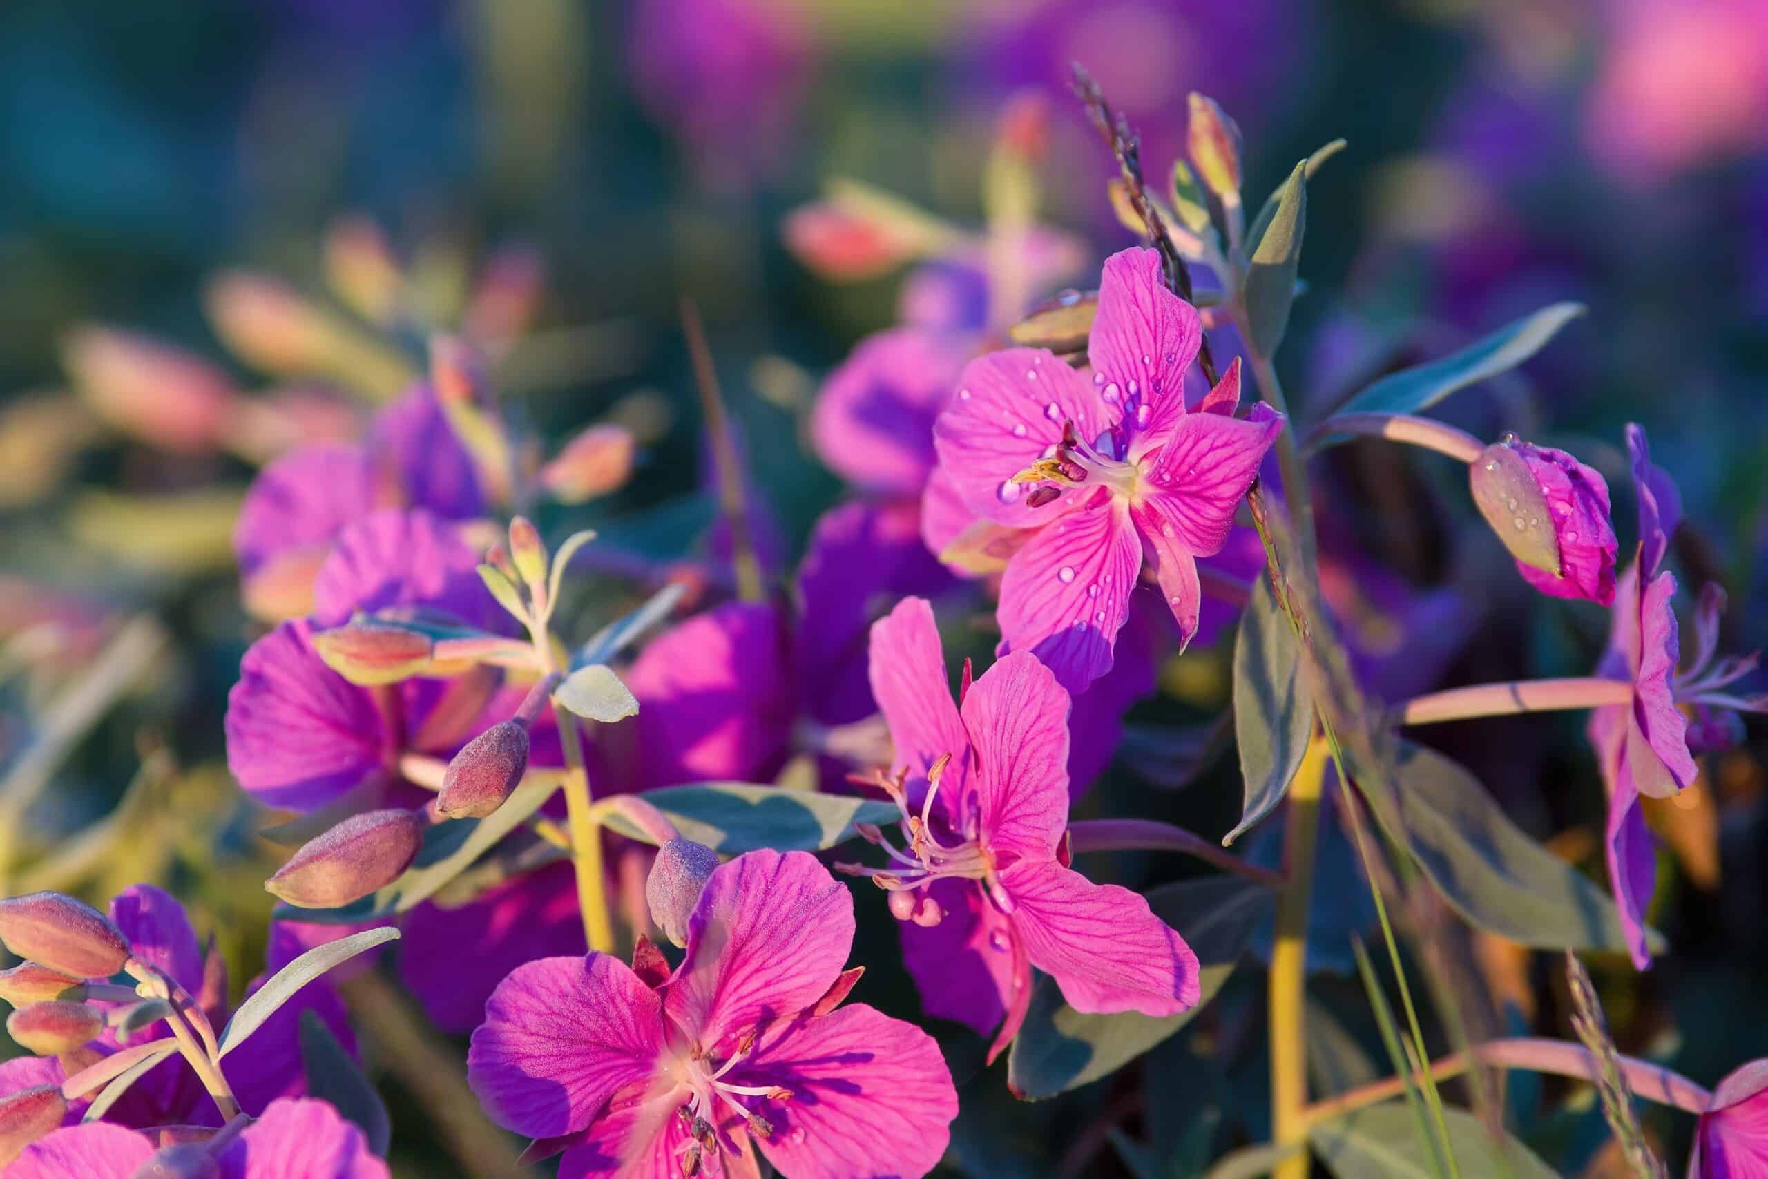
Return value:
[(886, 1179), (930, 1172), (951, 1140), (958, 1094), (939, 1045), (865, 1004), (766, 1038), (737, 1084), (780, 1085), (753, 1108), (773, 1133), (755, 1142), (792, 1179)]

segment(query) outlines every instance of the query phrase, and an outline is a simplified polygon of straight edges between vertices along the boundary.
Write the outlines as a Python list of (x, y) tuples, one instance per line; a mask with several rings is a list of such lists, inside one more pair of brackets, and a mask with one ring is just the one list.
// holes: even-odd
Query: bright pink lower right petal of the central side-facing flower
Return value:
[(1001, 873), (1031, 963), (1075, 1011), (1174, 1015), (1197, 1004), (1197, 955), (1140, 893), (1052, 861)]

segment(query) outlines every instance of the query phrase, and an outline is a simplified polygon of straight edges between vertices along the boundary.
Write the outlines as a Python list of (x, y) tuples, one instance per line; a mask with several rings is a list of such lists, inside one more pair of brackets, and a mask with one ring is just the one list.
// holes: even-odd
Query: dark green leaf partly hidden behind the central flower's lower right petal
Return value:
[(1029, 1101), (1054, 1098), (1123, 1068), (1177, 1032), (1227, 983), (1254, 932), (1269, 921), (1275, 896), (1238, 877), (1202, 877), (1153, 889), (1147, 903), (1155, 916), (1185, 937), (1202, 967), (1197, 1006), (1165, 1016), (1084, 1015), (1063, 1002), (1063, 992), (1047, 977), (1033, 992), (1025, 1023), (1013, 1039), (1008, 1085)]

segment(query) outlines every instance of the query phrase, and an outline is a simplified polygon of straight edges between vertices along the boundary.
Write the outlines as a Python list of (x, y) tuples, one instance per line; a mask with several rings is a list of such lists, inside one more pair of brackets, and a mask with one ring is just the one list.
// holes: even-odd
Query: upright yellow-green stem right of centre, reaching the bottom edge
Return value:
[[(1308, 1101), (1303, 1011), (1307, 1006), (1308, 901), (1314, 889), (1314, 847), (1319, 838), (1321, 794), (1326, 785), (1326, 741), (1314, 737), (1301, 769), (1289, 783), (1289, 824), (1284, 829), (1284, 887), (1276, 894), (1271, 947), (1271, 1135), (1282, 1144), (1307, 1138)], [(1275, 1179), (1305, 1179), (1307, 1154), (1284, 1160)]]

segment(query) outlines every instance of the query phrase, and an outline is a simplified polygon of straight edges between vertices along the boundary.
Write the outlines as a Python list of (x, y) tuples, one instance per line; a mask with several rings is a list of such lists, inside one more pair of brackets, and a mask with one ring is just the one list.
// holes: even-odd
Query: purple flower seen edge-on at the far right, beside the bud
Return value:
[(1634, 965), (1650, 965), (1644, 912), (1657, 877), (1651, 833), (1646, 829), (1639, 795), (1665, 797), (1694, 781), (1688, 718), (1680, 705), (1692, 705), (1701, 718), (1696, 737), (1724, 734), (1722, 721), (1734, 711), (1768, 711), (1768, 698), (1738, 696), (1727, 688), (1756, 668), (1756, 656), (1715, 663), (1718, 615), (1726, 596), (1717, 585), (1703, 590), (1696, 608), (1696, 656), (1676, 668), (1676, 574), (1660, 569), (1676, 532), (1681, 502), (1669, 475), (1651, 465), (1646, 431), (1627, 428), (1634, 486), (1639, 497), (1639, 557), (1621, 574), (1614, 596), (1609, 647), (1597, 666), (1605, 679), (1634, 686), (1632, 704), (1593, 709), (1589, 742), (1597, 749), (1609, 787), (1607, 857), (1614, 900), (1632, 946)]

